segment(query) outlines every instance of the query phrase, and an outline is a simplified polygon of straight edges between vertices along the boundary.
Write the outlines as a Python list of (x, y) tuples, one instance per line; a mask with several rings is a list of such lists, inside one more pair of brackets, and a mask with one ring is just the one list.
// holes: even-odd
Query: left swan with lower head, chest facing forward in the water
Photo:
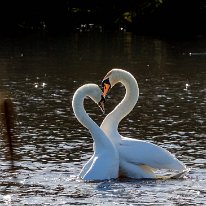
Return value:
[(90, 131), (94, 141), (94, 154), (84, 165), (79, 177), (87, 181), (118, 178), (118, 151), (105, 133), (86, 113), (84, 109), (86, 96), (98, 103), (99, 106), (104, 103), (104, 99), (101, 99), (102, 91), (96, 84), (85, 84), (74, 93), (72, 99), (74, 114), (78, 121)]

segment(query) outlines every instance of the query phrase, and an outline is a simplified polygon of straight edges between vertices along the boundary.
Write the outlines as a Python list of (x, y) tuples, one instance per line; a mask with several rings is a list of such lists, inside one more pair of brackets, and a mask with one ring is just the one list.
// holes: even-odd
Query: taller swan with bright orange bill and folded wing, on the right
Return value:
[(116, 83), (126, 88), (124, 99), (103, 120), (100, 128), (112, 140), (119, 151), (120, 175), (130, 178), (156, 178), (155, 169), (170, 169), (182, 172), (185, 165), (167, 150), (142, 140), (126, 138), (119, 134), (120, 121), (137, 103), (139, 88), (136, 79), (127, 71), (112, 69), (104, 77), (104, 96)]

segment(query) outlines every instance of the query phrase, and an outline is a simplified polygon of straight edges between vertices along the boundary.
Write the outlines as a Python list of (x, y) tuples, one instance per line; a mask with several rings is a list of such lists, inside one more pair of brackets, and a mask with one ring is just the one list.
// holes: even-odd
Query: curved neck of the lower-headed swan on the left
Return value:
[[(85, 97), (92, 98), (93, 90), (97, 89), (97, 86), (82, 86), (74, 94), (72, 99), (72, 107), (74, 114), (78, 121), (86, 127), (94, 140), (95, 150), (96, 148), (110, 147), (111, 142), (105, 135), (105, 133), (99, 128), (99, 126), (89, 117), (84, 109), (84, 99)], [(100, 90), (101, 91), (101, 90)], [(112, 145), (111, 145), (112, 146)]]

